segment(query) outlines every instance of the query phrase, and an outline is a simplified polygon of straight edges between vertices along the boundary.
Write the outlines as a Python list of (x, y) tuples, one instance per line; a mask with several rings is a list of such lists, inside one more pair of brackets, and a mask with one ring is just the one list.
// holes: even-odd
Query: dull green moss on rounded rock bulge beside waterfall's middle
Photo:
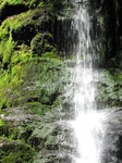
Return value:
[[(24, 87), (28, 87), (28, 82), (32, 79), (33, 74), (35, 74), (35, 78), (33, 79), (33, 87), (35, 86), (35, 89), (33, 89), (33, 91), (30, 89), (26, 92), (22, 91), (22, 93), (24, 93), (24, 100), (27, 100), (25, 102), (39, 102), (42, 104), (40, 104), (40, 108), (48, 106), (50, 109), (50, 106), (57, 101), (57, 98), (62, 93), (63, 87), (60, 78), (63, 75), (64, 65), (60, 60), (52, 59), (41, 59), (40, 63), (32, 63), (25, 72)], [(59, 87), (59, 84), (61, 88)]]

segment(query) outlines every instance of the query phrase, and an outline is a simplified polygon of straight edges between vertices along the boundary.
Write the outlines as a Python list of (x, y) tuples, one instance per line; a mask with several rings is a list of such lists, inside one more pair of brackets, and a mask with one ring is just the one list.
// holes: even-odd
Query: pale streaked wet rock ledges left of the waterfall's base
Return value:
[[(17, 152), (15, 145), (17, 146), (21, 141), (24, 142), (24, 148), (30, 146), (35, 149), (36, 152), (30, 148), (34, 153), (29, 155), (30, 158), (26, 158), (26, 161), (33, 159), (35, 163), (40, 161), (44, 163), (71, 163), (71, 154), (76, 152), (75, 142), (72, 140), (72, 127), (70, 127), (69, 122), (63, 121), (62, 115), (60, 109), (54, 109), (40, 116), (29, 113), (26, 108), (14, 108), (8, 111), (8, 115), (3, 116), (2, 114), (5, 125), (0, 127), (0, 136), (4, 135), (5, 138), (11, 138), (8, 148), (11, 148), (10, 145), (13, 146), (12, 154)], [(4, 141), (3, 145), (7, 146), (7, 142)], [(0, 146), (2, 152), (4, 152), (4, 146)], [(25, 154), (29, 152), (28, 148)], [(2, 153), (0, 153), (0, 158), (2, 161)], [(20, 155), (16, 158), (19, 159)], [(24, 161), (23, 158), (22, 160)]]

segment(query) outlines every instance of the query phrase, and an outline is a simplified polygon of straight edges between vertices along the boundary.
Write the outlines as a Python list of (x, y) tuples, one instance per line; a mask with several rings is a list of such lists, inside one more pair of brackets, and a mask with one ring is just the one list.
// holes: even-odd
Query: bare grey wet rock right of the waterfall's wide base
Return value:
[(102, 147), (101, 163), (122, 162), (122, 109), (109, 111), (108, 120), (105, 124), (106, 135)]

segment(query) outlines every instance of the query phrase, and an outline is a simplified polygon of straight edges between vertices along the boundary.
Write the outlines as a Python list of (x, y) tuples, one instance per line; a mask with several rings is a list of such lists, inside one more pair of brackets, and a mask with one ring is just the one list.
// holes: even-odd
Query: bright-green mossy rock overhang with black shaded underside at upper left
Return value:
[[(29, 42), (32, 38), (41, 29), (44, 20), (44, 9), (29, 10), (8, 17), (0, 26), (0, 38), (7, 39), (11, 30), (12, 37), (19, 42)], [(17, 42), (17, 43), (19, 43)]]

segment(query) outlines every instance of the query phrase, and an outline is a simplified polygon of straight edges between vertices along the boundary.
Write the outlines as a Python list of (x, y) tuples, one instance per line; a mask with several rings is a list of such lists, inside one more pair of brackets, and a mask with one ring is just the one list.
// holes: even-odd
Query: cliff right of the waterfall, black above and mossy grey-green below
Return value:
[[(98, 82), (98, 103), (122, 105), (122, 2), (90, 0), (94, 9), (94, 30), (99, 41), (101, 78)], [(101, 105), (100, 105), (101, 106)]]

